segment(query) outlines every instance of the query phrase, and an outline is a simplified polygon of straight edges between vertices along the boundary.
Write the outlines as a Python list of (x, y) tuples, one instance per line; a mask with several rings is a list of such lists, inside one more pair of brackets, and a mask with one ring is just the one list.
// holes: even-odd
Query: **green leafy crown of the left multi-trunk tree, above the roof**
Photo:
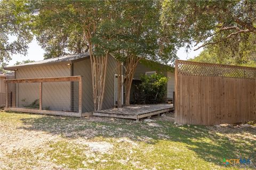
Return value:
[[(36, 1), (34, 30), (45, 58), (65, 54), (93, 53), (99, 49), (92, 43), (102, 27), (114, 17), (118, 2), (109, 1)], [(50, 24), (49, 24), (50, 23)], [(99, 28), (101, 27), (101, 28)], [(105, 54), (107, 50), (104, 49)], [(99, 53), (99, 52), (98, 52)]]

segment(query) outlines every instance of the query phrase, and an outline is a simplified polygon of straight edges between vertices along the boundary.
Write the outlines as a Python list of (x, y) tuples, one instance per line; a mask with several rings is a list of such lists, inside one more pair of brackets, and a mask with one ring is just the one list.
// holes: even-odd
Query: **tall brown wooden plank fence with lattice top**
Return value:
[(214, 125), (256, 120), (256, 68), (177, 60), (175, 122)]

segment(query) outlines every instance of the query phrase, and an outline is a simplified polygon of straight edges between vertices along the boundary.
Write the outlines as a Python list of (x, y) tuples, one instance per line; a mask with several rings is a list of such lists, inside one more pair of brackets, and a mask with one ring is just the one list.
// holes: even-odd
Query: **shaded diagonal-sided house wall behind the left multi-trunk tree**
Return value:
[[(115, 74), (117, 62), (115, 58), (109, 55), (107, 65), (107, 79), (105, 86), (105, 96), (103, 98), (102, 109), (112, 108), (114, 106), (114, 88), (115, 88)], [(94, 110), (92, 98), (92, 72), (90, 58), (83, 61), (75, 62), (73, 64), (74, 75), (82, 75), (83, 78), (83, 112), (92, 112)], [(76, 85), (75, 85), (76, 86)], [(77, 100), (77, 99), (75, 99)], [(75, 101), (76, 103), (76, 101)]]

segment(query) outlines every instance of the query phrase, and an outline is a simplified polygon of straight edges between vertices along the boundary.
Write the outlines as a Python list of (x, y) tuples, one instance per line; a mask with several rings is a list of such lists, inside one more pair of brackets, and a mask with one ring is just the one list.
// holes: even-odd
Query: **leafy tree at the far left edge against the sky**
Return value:
[[(31, 9), (26, 0), (0, 1), (0, 63), (8, 62), (13, 54), (27, 54)], [(11, 41), (10, 38), (14, 40)]]

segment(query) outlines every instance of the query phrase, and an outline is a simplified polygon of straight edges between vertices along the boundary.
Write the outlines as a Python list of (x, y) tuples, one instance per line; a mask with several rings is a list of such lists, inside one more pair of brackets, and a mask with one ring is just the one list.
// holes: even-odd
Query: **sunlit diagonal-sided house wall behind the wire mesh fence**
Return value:
[[(63, 64), (23, 67), (15, 71), (15, 78), (47, 78), (68, 77), (70, 66)], [(39, 83), (16, 84), (16, 106), (26, 107), (39, 99)], [(70, 82), (47, 82), (43, 83), (43, 109), (53, 111), (70, 111), (71, 107)]]

